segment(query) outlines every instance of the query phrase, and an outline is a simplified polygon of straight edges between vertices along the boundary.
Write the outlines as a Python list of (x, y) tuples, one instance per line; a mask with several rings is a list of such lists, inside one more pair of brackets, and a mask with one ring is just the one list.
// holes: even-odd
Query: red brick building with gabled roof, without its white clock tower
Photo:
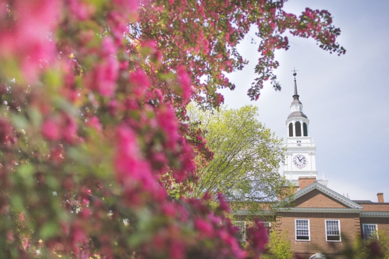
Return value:
[[(286, 231), (292, 249), (301, 258), (340, 255), (355, 234), (365, 239), (378, 230), (389, 234), (389, 203), (351, 201), (319, 183), (315, 176), (300, 176), (291, 205), (277, 210), (274, 231)], [(324, 258), (324, 257), (323, 257)], [(340, 257), (341, 258), (341, 257)]]

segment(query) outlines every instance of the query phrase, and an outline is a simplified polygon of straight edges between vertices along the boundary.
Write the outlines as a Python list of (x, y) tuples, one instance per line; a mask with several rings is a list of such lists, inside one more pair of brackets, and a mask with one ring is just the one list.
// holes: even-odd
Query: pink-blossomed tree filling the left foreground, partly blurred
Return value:
[(195, 156), (210, 160), (185, 112), (235, 87), (225, 74), (245, 65), (251, 25), (252, 99), (263, 81), (279, 89), (285, 31), (345, 53), (329, 12), (284, 2), (1, 0), (0, 257), (258, 258), (265, 232), (243, 249), (221, 196), (181, 195)]

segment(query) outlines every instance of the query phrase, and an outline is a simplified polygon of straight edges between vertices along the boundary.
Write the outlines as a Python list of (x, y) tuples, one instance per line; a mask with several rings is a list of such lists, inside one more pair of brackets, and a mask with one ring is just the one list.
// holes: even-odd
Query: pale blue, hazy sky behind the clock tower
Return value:
[(330, 54), (312, 39), (290, 36), (290, 49), (276, 51), (280, 66), (275, 74), (281, 92), (266, 83), (258, 101), (250, 101), (247, 90), (256, 77), (254, 66), (259, 57), (258, 45), (251, 44), (251, 37), (256, 37), (251, 30), (238, 45), (249, 65), (229, 74), (236, 88), (221, 91), (224, 103), (229, 108), (257, 106), (260, 122), (285, 138), (295, 67), (299, 99), (317, 147), (318, 178), (324, 173), (327, 187), (348, 194), (351, 200), (376, 202), (377, 192), (383, 192), (389, 202), (389, 1), (285, 3), (285, 10), (295, 15), (306, 7), (331, 13), (346, 54)]

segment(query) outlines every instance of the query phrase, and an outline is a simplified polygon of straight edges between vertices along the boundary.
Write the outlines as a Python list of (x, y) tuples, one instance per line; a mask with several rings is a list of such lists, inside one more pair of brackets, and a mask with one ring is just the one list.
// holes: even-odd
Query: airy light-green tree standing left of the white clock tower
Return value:
[[(265, 201), (275, 201), (288, 181), (279, 174), (283, 160), (282, 140), (256, 119), (258, 108), (222, 106), (209, 111), (188, 108), (190, 122), (199, 123), (213, 160), (199, 162), (198, 184), (190, 194), (216, 197), (218, 192), (235, 206), (257, 210)], [(262, 203), (258, 203), (262, 202)]]

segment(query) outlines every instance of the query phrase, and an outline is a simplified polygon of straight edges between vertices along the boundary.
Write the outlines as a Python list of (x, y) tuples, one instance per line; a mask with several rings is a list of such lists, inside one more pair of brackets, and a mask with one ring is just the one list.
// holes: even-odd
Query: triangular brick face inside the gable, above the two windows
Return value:
[(350, 208), (344, 203), (329, 197), (328, 195), (314, 189), (301, 197), (295, 199), (292, 206), (294, 208)]

